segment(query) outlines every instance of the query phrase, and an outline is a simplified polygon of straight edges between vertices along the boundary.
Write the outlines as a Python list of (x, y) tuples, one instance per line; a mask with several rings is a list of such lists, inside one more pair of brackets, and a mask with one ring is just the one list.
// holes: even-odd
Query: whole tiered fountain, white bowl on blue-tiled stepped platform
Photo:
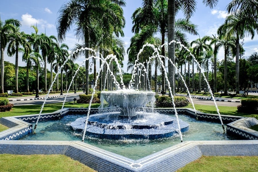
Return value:
[[(153, 112), (155, 92), (122, 89), (102, 91), (101, 102), (107, 101), (109, 107), (104, 113), (89, 116), (86, 135), (107, 139), (156, 139), (171, 137), (178, 133), (175, 118)], [(101, 108), (100, 108), (101, 109)], [(78, 118), (70, 124), (76, 131), (85, 128), (85, 119)], [(181, 132), (189, 125), (179, 121)]]

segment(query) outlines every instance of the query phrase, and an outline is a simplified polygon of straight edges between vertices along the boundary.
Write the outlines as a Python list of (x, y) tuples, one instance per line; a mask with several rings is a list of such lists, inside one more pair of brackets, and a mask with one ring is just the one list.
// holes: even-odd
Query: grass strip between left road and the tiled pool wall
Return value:
[[(99, 107), (99, 103), (94, 103), (91, 105), (92, 108)], [(22, 105), (22, 106), (13, 106), (11, 111), (0, 112), (0, 118), (6, 116), (17, 116), (17, 115), (31, 115), (38, 114), (40, 112), (42, 105)], [(89, 104), (78, 104), (73, 102), (64, 103), (64, 107), (89, 107)], [(62, 103), (54, 104), (45, 104), (42, 113), (50, 113), (62, 108)]]

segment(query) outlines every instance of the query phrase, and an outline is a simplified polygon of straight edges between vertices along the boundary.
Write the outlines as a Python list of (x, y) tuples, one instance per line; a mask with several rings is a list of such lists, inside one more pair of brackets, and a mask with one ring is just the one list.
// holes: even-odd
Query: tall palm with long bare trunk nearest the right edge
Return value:
[(236, 38), (236, 94), (239, 94), (239, 40), (245, 36), (255, 36), (255, 30), (258, 33), (258, 24), (247, 15), (236, 13), (228, 15), (224, 24), (219, 27), (220, 33), (223, 32), (226, 38), (234, 36)]

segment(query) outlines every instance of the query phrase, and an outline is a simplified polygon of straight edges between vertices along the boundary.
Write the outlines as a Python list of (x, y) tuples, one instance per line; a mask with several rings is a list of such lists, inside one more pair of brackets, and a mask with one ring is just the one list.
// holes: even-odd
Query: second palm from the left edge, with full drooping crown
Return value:
[(26, 56), (30, 53), (31, 47), (27, 41), (28, 35), (24, 32), (20, 32), (18, 27), (15, 28), (14, 32), (10, 34), (10, 43), (7, 47), (8, 56), (15, 54), (15, 93), (18, 93), (18, 52), (20, 45), (23, 46), (23, 53)]

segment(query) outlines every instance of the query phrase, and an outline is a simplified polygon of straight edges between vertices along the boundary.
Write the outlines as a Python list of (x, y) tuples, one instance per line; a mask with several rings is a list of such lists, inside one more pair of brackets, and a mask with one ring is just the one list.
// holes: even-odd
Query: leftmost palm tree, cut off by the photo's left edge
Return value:
[(15, 32), (15, 27), (20, 27), (21, 23), (17, 19), (0, 19), (0, 93), (4, 93), (4, 50), (9, 42), (11, 32)]

